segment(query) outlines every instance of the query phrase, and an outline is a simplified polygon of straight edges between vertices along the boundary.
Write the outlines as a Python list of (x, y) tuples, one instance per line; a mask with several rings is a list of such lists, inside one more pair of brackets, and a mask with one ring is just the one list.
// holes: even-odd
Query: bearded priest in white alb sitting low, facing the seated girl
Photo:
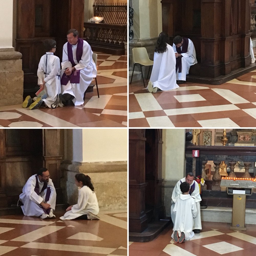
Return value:
[(40, 168), (37, 174), (27, 180), (18, 204), (25, 216), (55, 218), (56, 190), (46, 168)]

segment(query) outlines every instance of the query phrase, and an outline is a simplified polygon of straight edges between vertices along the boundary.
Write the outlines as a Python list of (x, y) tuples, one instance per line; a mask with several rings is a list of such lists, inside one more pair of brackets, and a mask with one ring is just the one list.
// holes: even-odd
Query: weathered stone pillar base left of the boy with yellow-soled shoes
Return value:
[(22, 54), (13, 48), (0, 49), (0, 106), (23, 102)]

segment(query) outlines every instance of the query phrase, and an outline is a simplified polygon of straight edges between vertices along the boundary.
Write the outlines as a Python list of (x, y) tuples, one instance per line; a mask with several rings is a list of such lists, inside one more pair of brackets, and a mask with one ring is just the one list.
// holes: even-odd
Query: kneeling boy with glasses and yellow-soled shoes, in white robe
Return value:
[(45, 90), (46, 97), (35, 97), (31, 99), (27, 96), (22, 107), (37, 109), (41, 105), (55, 109), (57, 106), (63, 106), (58, 94), (60, 93), (60, 59), (54, 55), (56, 51), (56, 41), (47, 39), (44, 41), (46, 54), (43, 55), (38, 64), (37, 76), (40, 89)]

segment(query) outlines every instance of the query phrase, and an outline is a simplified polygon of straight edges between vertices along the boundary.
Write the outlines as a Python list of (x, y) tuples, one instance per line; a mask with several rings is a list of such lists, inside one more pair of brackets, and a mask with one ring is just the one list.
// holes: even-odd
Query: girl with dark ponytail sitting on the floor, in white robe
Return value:
[(71, 205), (66, 209), (61, 220), (72, 219), (99, 219), (99, 205), (94, 192), (94, 187), (91, 183), (91, 178), (83, 173), (75, 175), (75, 183), (79, 188), (78, 203)]

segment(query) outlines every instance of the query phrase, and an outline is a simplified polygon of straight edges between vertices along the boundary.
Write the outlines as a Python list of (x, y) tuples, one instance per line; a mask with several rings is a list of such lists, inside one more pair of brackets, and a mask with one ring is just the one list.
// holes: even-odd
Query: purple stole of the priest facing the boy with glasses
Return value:
[[(67, 48), (68, 48), (68, 60), (71, 62), (72, 67), (74, 67), (76, 66), (76, 63), (74, 62), (74, 59), (73, 59), (72, 45), (68, 43)], [(76, 50), (77, 62), (81, 60), (82, 55), (83, 55), (83, 39), (78, 38), (77, 50)], [(68, 81), (70, 81), (70, 83), (80, 83), (80, 70), (73, 71), (70, 76), (67, 76), (64, 73), (61, 77), (60, 83), (62, 85), (67, 85)]]

